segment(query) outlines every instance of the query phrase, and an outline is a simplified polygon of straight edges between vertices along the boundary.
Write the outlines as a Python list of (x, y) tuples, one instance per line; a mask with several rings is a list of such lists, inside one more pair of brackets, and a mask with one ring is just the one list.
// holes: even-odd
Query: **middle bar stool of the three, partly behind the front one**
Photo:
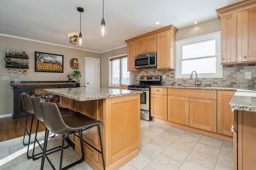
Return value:
[[(37, 139), (37, 132), (38, 132), (38, 125), (39, 125), (39, 121), (44, 121), (43, 119), (43, 113), (42, 113), (42, 109), (41, 109), (41, 106), (40, 106), (40, 100), (41, 98), (39, 97), (36, 97), (34, 95), (32, 95), (30, 97), (30, 101), (32, 103), (32, 106), (33, 106), (33, 109), (34, 109), (34, 115), (36, 116), (36, 118), (38, 119), (37, 120), (37, 125), (36, 125), (36, 133), (35, 133), (35, 139), (34, 139), (34, 147), (33, 147), (33, 152), (32, 152), (32, 159), (33, 160), (37, 160), (39, 158), (42, 157), (42, 152), (41, 153), (38, 153), (38, 154), (34, 154), (34, 151), (35, 151), (35, 145), (36, 143), (38, 143), (38, 146), (42, 149), (43, 151), (43, 147), (41, 146), (41, 144), (39, 143), (38, 139)], [(42, 99), (44, 100), (44, 99)], [(62, 116), (69, 116), (69, 115), (73, 115), (73, 114), (76, 114), (77, 112), (76, 111), (73, 111), (71, 109), (68, 109), (68, 108), (60, 108), (60, 113)], [(69, 144), (64, 147), (64, 149), (68, 148), (69, 147)], [(47, 154), (50, 154), (50, 153), (53, 153), (53, 152), (56, 152), (58, 150), (60, 150), (61, 148), (61, 145), (58, 146), (58, 147), (55, 147), (55, 148), (52, 148), (52, 149), (49, 149), (49, 150), (46, 150)], [(50, 152), (51, 151), (51, 152)], [(38, 157), (36, 157), (38, 156)]]

